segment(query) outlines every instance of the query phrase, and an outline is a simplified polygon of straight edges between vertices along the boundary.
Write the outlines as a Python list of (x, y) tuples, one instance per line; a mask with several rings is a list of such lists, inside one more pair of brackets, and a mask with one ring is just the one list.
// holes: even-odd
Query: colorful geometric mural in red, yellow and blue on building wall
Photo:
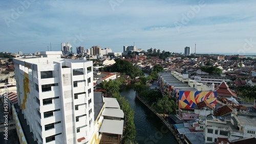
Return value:
[(215, 107), (216, 97), (216, 91), (179, 91), (179, 108), (193, 109), (197, 103), (202, 101)]

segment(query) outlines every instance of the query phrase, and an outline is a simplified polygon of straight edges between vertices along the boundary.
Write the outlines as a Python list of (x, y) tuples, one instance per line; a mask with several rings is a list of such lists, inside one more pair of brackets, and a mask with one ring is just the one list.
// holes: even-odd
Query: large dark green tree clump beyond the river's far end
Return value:
[(142, 76), (142, 71), (127, 60), (115, 59), (115, 64), (104, 67), (105, 71), (116, 71), (129, 75), (131, 78)]

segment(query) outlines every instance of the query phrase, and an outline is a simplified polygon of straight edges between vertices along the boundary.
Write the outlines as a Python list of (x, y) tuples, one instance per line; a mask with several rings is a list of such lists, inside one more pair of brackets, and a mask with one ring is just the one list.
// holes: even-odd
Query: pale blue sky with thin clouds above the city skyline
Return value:
[[(0, 1), (0, 52), (60, 51), (61, 42), (112, 52), (256, 53), (256, 1)], [(51, 45), (50, 45), (51, 43)], [(51, 47), (50, 47), (51, 46)]]

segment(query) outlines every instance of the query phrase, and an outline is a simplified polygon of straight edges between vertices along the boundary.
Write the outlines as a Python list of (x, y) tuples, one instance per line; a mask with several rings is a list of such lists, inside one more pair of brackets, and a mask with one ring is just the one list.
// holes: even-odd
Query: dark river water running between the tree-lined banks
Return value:
[(136, 98), (133, 85), (123, 87), (120, 93), (135, 112), (136, 141), (139, 144), (178, 143), (161, 119)]

